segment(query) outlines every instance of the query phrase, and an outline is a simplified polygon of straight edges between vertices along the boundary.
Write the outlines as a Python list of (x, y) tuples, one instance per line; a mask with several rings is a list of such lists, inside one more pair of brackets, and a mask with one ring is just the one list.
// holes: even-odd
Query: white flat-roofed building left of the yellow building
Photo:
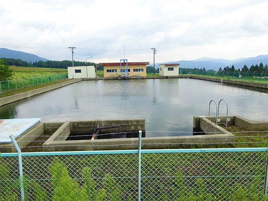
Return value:
[(67, 67), (68, 78), (94, 78), (97, 77), (98, 66)]

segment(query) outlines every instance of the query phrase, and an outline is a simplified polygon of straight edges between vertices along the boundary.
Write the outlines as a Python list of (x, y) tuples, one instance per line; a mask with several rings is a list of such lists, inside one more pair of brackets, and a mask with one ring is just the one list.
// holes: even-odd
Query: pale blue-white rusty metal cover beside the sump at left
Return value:
[(11, 142), (10, 134), (16, 138), (37, 124), (41, 118), (31, 119), (0, 119), (0, 143)]

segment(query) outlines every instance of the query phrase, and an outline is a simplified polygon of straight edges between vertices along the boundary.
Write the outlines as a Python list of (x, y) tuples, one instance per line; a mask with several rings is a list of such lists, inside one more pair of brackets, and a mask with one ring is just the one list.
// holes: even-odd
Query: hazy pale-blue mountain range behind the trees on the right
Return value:
[[(179, 67), (182, 68), (205, 68), (206, 70), (218, 70), (220, 67), (224, 68), (224, 67), (231, 67), (232, 65), (234, 65), (234, 67), (236, 69), (238, 68), (243, 68), (244, 65), (246, 64), (246, 66), (249, 68), (251, 65), (260, 65), (260, 63), (263, 63), (263, 65), (265, 66), (266, 64), (268, 64), (268, 55), (259, 55), (256, 57), (250, 57), (250, 58), (239, 58), (239, 59), (235, 59), (235, 60), (227, 60), (227, 59), (213, 59), (210, 57), (203, 57), (200, 59), (196, 59), (196, 60), (192, 60), (192, 61), (185, 61), (185, 60), (181, 60), (181, 61), (176, 61), (176, 62), (168, 62), (166, 64), (175, 64), (175, 63), (179, 63)], [(163, 63), (156, 63), (155, 66), (156, 68), (159, 67), (160, 64)]]

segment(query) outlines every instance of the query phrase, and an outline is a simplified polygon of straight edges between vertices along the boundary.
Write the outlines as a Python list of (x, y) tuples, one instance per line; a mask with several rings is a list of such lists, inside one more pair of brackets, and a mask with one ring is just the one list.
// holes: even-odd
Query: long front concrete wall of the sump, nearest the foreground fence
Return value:
[[(189, 135), (168, 137), (143, 137), (141, 139), (142, 149), (179, 149), (190, 148), (193, 144), (202, 144), (208, 147), (215, 143), (234, 142), (233, 134), (215, 135)], [(96, 139), (96, 140), (72, 140), (56, 141), (53, 144), (43, 145), (43, 151), (100, 151), (100, 150), (132, 150), (138, 149), (138, 138), (120, 139)]]

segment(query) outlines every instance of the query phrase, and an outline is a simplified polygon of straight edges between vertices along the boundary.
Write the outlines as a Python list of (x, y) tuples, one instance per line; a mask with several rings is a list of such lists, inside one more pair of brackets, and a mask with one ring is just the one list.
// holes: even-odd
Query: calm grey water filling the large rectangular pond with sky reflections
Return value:
[[(145, 118), (147, 136), (189, 135), (193, 116), (225, 99), (229, 115), (268, 120), (268, 93), (193, 79), (82, 81), (0, 107), (0, 119), (42, 121)], [(216, 108), (211, 104), (211, 115)], [(226, 115), (221, 103), (220, 115)]]

